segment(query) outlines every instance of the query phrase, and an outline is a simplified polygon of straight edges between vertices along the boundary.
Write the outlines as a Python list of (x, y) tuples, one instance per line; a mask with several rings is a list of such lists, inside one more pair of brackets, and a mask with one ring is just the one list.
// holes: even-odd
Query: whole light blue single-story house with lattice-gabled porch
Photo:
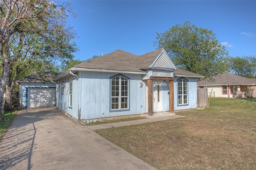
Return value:
[(116, 50), (74, 65), (54, 78), (56, 107), (75, 119), (98, 119), (197, 107), (196, 80), (166, 51), (144, 55)]

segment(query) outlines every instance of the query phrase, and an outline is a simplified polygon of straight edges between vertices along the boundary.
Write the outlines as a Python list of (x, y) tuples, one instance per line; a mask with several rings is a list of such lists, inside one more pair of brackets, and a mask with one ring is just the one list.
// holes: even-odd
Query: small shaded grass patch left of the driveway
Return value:
[(6, 133), (6, 131), (8, 130), (10, 125), (12, 124), (12, 121), (13, 121), (15, 116), (16, 116), (15, 111), (9, 111), (9, 112), (4, 112), (3, 113), (3, 117), (5, 119), (8, 119), (9, 121), (6, 121), (6, 122), (4, 120), (0, 121), (0, 142), (1, 142), (4, 134)]

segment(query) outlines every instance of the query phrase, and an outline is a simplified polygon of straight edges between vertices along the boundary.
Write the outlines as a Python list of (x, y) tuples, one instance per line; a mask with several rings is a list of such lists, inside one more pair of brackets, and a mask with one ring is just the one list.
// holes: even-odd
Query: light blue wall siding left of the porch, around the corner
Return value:
[[(79, 79), (73, 75), (58, 80), (57, 107), (78, 119), (78, 104), (81, 108), (81, 119), (99, 119), (123, 115), (135, 115), (143, 112), (143, 88), (139, 87), (141, 75), (124, 74), (130, 78), (130, 110), (110, 112), (110, 77), (116, 73), (79, 71)], [(68, 107), (68, 85), (65, 85), (65, 94), (61, 95), (61, 82), (73, 83), (73, 106)], [(78, 89), (80, 89), (78, 93)], [(66, 97), (67, 96), (67, 97)]]

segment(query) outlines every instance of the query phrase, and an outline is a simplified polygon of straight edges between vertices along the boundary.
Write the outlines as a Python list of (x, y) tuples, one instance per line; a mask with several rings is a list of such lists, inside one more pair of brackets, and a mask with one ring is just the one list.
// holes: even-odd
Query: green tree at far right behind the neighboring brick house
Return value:
[(228, 63), (236, 75), (256, 78), (256, 56), (228, 57)]

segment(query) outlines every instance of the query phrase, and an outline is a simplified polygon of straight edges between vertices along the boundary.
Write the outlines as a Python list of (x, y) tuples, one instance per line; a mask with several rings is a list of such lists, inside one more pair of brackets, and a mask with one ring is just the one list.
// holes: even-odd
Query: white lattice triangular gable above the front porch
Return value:
[(149, 68), (177, 69), (164, 48), (162, 48), (160, 53), (158, 53), (157, 57), (150, 64)]

